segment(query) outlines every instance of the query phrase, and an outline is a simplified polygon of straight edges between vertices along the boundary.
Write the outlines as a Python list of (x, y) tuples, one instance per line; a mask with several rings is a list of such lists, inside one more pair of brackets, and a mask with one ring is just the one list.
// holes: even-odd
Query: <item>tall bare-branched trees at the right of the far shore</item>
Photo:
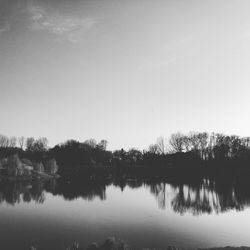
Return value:
[(192, 152), (203, 160), (238, 158), (249, 155), (250, 137), (207, 132), (175, 133), (167, 143), (163, 137), (158, 138), (149, 151), (156, 154)]

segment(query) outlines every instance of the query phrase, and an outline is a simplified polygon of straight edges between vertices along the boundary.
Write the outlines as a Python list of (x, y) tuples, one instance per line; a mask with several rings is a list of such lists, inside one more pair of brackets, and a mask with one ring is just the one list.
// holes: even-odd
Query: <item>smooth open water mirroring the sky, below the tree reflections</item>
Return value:
[(171, 209), (173, 188), (166, 185), (165, 209), (159, 209), (148, 189), (126, 187), (122, 192), (109, 186), (103, 201), (65, 201), (46, 193), (43, 204), (21, 201), (11, 206), (4, 202), (0, 206), (1, 242), (6, 250), (17, 246), (27, 249), (31, 244), (52, 250), (74, 240), (86, 246), (109, 236), (117, 236), (134, 248), (250, 245), (249, 209), (219, 215), (180, 215)]

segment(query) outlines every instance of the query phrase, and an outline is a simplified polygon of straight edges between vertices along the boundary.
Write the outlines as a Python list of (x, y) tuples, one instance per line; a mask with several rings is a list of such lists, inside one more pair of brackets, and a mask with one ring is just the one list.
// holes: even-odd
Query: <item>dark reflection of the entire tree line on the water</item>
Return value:
[(122, 191), (126, 186), (132, 189), (146, 186), (155, 196), (159, 208), (165, 209), (168, 206), (180, 214), (222, 213), (232, 209), (240, 211), (250, 206), (250, 183), (247, 176), (226, 179), (210, 176), (184, 182), (131, 173), (86, 175), (84, 179), (75, 181), (59, 179), (49, 182), (1, 183), (0, 203), (43, 203), (45, 192), (62, 196), (65, 200), (105, 200), (106, 189), (110, 185), (119, 187)]

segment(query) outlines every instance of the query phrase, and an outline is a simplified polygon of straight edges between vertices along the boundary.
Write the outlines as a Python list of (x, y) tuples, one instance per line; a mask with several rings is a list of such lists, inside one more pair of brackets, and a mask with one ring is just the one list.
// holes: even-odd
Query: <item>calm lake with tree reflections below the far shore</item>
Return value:
[(247, 180), (90, 183), (2, 183), (1, 249), (87, 247), (110, 236), (133, 249), (250, 245)]

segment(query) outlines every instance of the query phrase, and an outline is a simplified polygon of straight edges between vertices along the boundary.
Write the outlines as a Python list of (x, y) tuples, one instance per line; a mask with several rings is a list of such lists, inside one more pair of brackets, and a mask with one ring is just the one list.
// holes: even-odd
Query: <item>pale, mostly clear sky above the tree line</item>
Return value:
[(0, 0), (0, 133), (250, 135), (250, 2)]

